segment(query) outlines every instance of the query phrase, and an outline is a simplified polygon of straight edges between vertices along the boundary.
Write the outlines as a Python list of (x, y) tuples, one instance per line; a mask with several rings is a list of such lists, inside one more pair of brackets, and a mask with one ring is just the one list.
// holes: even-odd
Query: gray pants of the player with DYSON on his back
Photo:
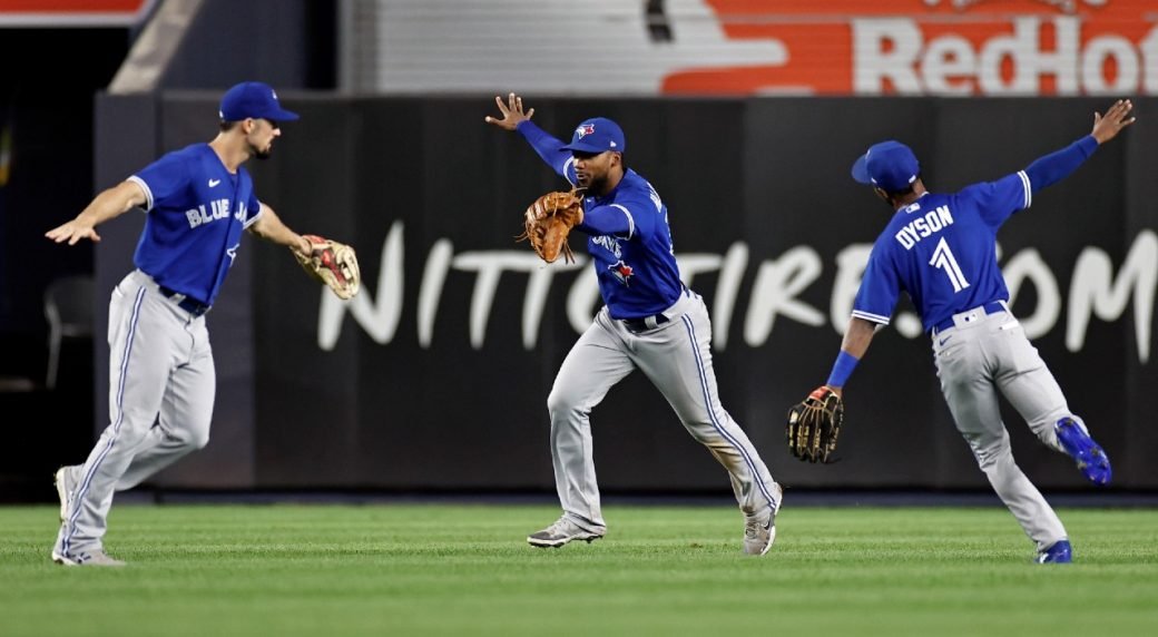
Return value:
[(1061, 387), (1012, 314), (962, 312), (954, 323), (933, 334), (941, 393), (997, 496), (1042, 550), (1067, 539), (1065, 527), (1013, 462), (997, 394), (1010, 401), (1042, 442), (1061, 453), (1065, 452), (1054, 424), (1063, 417), (1082, 419), (1070, 413)]

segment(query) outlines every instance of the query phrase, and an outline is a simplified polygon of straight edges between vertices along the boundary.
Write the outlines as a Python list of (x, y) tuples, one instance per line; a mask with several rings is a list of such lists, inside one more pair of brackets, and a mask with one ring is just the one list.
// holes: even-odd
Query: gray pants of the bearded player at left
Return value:
[(102, 550), (113, 491), (208, 442), (217, 378), (205, 316), (137, 270), (109, 302), (109, 426), (88, 455), (60, 533), (65, 556)]

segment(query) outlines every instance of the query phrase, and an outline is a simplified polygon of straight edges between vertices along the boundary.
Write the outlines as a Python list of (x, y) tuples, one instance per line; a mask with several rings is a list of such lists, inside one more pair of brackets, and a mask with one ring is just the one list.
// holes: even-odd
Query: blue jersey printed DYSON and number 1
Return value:
[(926, 192), (896, 211), (873, 244), (852, 315), (888, 324), (903, 290), (931, 331), (959, 312), (1007, 300), (997, 230), (1032, 197), (1021, 170), (952, 195)]

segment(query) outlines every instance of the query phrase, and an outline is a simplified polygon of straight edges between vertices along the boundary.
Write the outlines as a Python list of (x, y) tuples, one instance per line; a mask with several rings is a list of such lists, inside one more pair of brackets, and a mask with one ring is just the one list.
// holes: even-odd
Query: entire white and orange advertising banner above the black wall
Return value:
[[(379, 94), (1083, 96), (1158, 93), (1152, 0), (361, 0)], [(454, 15), (454, 20), (447, 20)], [(496, 64), (494, 60), (503, 60)]]

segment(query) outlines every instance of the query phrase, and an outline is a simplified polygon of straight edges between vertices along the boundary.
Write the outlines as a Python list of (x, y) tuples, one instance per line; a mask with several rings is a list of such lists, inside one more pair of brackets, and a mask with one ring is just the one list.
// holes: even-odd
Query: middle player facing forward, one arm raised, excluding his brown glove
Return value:
[(564, 145), (530, 122), (522, 98), (496, 97), (501, 118), (488, 123), (518, 131), (556, 173), (585, 189), (587, 251), (604, 307), (571, 349), (548, 398), (551, 457), (563, 515), (533, 533), (535, 547), (591, 542), (607, 530), (592, 456), (591, 410), (635, 369), (664, 394), (683, 426), (727, 469), (746, 518), (743, 551), (768, 552), (776, 539), (782, 489), (716, 388), (711, 322), (703, 299), (680, 280), (667, 206), (624, 166), (626, 141), (602, 117), (579, 124)]

